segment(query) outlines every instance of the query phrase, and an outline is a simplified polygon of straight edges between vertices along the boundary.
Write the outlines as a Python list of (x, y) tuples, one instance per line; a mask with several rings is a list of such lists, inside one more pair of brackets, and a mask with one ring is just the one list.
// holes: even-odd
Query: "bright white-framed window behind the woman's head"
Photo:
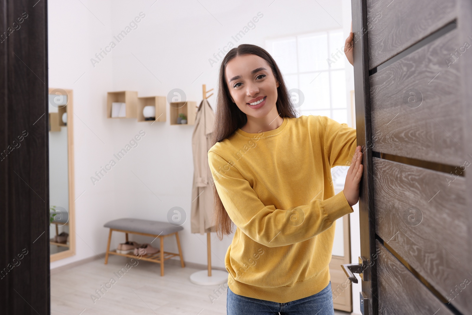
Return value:
[(301, 115), (348, 122), (344, 43), (341, 29), (266, 41), (287, 88), (302, 92), (303, 96), (292, 94), (303, 97), (298, 108)]

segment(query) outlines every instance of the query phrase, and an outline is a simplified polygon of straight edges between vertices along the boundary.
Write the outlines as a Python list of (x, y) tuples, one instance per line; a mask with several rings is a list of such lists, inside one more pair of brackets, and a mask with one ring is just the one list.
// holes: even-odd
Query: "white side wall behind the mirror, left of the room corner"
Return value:
[(76, 255), (52, 262), (51, 268), (104, 252), (105, 229), (100, 227), (105, 213), (115, 208), (114, 193), (107, 196), (104, 185), (93, 187), (89, 179), (115, 141), (104, 115), (106, 92), (113, 90), (112, 60), (100, 68), (90, 63), (97, 47), (110, 39), (111, 1), (82, 2), (98, 19), (80, 1), (48, 1), (49, 86), (74, 92), (75, 198), (85, 191), (75, 203)]

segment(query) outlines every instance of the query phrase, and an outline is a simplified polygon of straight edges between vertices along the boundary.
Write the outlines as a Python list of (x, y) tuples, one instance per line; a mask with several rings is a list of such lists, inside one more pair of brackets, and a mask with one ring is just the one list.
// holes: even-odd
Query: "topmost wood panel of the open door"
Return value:
[(367, 0), (369, 69), (457, 17), (455, 0)]

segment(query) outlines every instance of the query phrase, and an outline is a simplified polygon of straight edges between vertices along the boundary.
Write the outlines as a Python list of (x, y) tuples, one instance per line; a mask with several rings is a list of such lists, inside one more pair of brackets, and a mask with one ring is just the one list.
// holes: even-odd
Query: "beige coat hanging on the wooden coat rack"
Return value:
[(194, 153), (194, 183), (192, 187), (191, 232), (204, 234), (215, 232), (213, 220), (213, 177), (208, 165), (208, 150), (215, 113), (204, 99), (198, 107), (195, 128), (192, 135)]

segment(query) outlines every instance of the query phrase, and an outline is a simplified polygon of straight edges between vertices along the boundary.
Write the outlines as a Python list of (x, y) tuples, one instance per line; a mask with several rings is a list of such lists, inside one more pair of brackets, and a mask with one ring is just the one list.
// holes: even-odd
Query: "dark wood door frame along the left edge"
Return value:
[(0, 0), (0, 307), (50, 314), (46, 0)]

